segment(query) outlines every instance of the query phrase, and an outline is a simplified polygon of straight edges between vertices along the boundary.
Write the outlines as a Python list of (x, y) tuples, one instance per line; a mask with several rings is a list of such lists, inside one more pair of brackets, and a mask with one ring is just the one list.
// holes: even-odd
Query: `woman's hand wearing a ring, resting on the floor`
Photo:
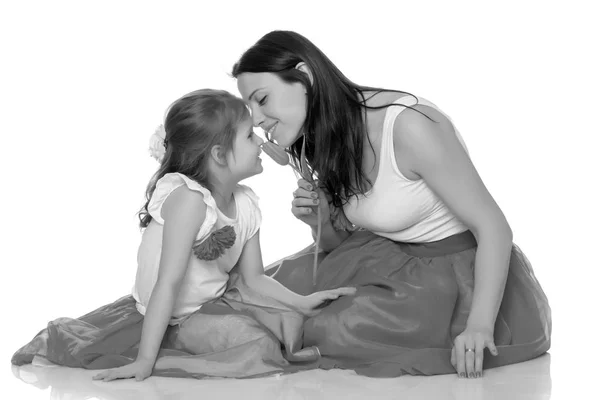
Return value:
[(479, 378), (483, 375), (483, 350), (494, 356), (498, 350), (494, 345), (493, 328), (469, 327), (454, 339), (450, 362), (461, 378)]

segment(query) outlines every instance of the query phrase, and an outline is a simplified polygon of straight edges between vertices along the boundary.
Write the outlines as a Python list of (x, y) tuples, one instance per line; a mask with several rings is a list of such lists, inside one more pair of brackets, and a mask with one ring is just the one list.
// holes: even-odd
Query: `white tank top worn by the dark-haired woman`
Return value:
[[(407, 106), (423, 104), (444, 114), (433, 103), (422, 98), (417, 103), (412, 96), (404, 96), (394, 103)], [(387, 108), (377, 178), (367, 193), (359, 195), (358, 199), (355, 196), (350, 198), (344, 206), (346, 217), (357, 227), (398, 242), (434, 242), (466, 231), (467, 227), (422, 179), (410, 180), (398, 169), (394, 153), (394, 122), (404, 110), (406, 107)], [(466, 150), (456, 129), (455, 134)]]

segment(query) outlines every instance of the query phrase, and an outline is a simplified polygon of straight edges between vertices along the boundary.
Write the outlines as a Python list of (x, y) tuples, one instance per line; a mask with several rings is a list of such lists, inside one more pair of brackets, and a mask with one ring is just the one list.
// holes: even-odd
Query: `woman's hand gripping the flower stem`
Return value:
[(304, 179), (298, 180), (298, 189), (294, 191), (294, 200), (292, 201), (292, 214), (300, 221), (316, 227), (317, 207), (321, 208), (321, 226), (330, 221), (329, 203), (325, 192), (320, 188), (315, 188), (311, 183)]

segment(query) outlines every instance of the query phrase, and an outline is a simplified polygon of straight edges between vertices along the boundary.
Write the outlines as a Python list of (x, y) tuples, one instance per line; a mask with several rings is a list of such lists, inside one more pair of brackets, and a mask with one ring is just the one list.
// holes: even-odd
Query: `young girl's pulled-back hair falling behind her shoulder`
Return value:
[(224, 90), (202, 89), (175, 101), (165, 118), (166, 152), (146, 188), (146, 204), (139, 211), (140, 228), (152, 221), (148, 205), (156, 183), (178, 172), (212, 190), (207, 160), (213, 146), (233, 147), (238, 125), (250, 117), (242, 99)]

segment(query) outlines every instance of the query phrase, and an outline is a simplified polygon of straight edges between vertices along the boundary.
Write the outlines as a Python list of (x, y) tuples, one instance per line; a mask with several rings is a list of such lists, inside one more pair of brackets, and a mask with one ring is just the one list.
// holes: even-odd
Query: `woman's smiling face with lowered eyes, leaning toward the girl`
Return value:
[(282, 147), (290, 147), (301, 135), (306, 119), (306, 90), (299, 82), (286, 83), (271, 72), (245, 72), (237, 79), (238, 90), (250, 107), (254, 126)]

